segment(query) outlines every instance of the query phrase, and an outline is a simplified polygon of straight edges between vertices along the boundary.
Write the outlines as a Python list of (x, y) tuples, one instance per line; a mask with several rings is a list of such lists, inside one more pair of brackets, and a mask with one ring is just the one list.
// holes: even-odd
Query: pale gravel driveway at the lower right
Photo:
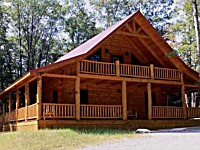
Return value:
[(152, 131), (82, 150), (200, 150), (200, 127)]

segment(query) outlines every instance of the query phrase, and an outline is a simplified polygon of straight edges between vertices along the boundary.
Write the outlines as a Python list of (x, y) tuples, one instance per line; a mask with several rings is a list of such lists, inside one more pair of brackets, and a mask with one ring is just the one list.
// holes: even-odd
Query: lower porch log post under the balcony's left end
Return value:
[(75, 83), (75, 103), (76, 103), (76, 120), (80, 120), (80, 77), (76, 78), (76, 83)]

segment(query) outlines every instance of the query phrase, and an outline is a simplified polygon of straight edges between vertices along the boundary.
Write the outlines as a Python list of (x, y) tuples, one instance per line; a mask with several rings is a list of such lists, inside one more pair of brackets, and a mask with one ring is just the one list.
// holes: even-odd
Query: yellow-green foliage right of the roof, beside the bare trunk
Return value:
[(171, 46), (188, 66), (197, 70), (198, 57), (192, 3), (191, 1), (180, 1), (177, 5), (179, 13), (176, 15), (176, 22), (169, 28), (174, 41)]

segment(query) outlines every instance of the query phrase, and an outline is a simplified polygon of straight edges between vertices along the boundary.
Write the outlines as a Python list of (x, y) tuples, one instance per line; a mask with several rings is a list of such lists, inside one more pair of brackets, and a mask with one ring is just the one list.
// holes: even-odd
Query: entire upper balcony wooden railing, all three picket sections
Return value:
[(181, 72), (176, 69), (138, 66), (119, 63), (96, 62), (83, 60), (80, 62), (80, 72), (98, 75), (112, 75), (136, 78), (152, 78), (160, 80), (181, 80)]

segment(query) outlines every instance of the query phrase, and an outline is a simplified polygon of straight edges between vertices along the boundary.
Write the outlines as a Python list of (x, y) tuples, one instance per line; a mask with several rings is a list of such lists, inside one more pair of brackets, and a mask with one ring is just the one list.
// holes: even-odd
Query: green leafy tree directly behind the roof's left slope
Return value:
[(67, 52), (95, 36), (101, 29), (96, 28), (94, 16), (86, 10), (84, 0), (69, 0), (65, 8), (65, 32)]

